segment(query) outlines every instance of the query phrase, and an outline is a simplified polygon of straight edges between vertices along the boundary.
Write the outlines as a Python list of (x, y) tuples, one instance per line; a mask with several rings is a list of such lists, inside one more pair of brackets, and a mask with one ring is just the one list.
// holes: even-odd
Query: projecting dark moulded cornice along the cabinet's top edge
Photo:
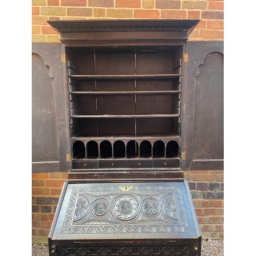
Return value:
[(188, 36), (199, 21), (199, 19), (48, 20), (48, 24), (59, 34), (107, 31), (183, 31)]

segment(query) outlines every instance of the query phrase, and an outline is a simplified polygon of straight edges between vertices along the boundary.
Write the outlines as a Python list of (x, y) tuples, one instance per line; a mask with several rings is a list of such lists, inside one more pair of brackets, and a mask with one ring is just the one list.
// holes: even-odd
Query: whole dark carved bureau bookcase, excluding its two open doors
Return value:
[(50, 256), (201, 255), (182, 172), (186, 41), (199, 20), (55, 20), (71, 166)]

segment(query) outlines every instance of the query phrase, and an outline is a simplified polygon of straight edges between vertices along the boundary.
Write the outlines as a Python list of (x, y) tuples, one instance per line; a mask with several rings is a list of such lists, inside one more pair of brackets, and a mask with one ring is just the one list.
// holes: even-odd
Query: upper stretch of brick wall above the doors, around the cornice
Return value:
[(32, 41), (57, 42), (49, 19), (201, 19), (189, 40), (223, 40), (223, 1), (32, 0)]

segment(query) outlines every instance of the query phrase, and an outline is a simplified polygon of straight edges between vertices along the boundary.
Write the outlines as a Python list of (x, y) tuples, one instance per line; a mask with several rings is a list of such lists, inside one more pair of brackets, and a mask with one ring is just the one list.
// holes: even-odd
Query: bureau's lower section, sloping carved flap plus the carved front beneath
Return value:
[(187, 181), (67, 180), (49, 233), (49, 255), (200, 256)]

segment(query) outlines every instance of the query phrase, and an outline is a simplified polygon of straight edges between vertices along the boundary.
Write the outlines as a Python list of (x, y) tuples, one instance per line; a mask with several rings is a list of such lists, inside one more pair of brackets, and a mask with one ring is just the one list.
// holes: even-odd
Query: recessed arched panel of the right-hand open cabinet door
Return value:
[[(194, 160), (223, 161), (224, 58), (209, 53), (195, 80)], [(207, 113), (207, 114), (205, 114)], [(204, 124), (202, 129), (202, 124)]]

